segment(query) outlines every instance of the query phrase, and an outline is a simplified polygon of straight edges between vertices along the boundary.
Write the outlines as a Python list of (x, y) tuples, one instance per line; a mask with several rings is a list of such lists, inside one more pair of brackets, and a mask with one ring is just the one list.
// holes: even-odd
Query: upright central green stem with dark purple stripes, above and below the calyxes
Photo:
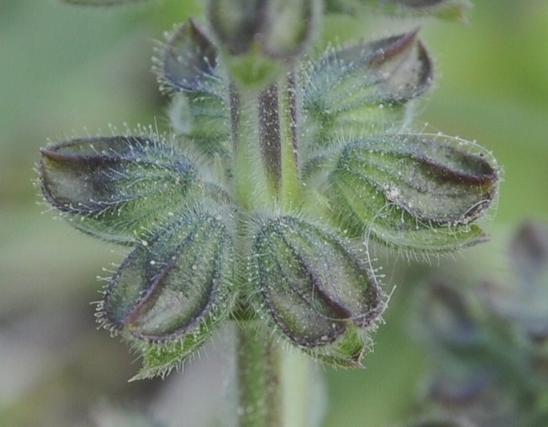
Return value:
[[(234, 146), (234, 194), (242, 213), (238, 248), (246, 253), (249, 212), (279, 203), (299, 206), (301, 184), (297, 159), (297, 92), (295, 73), (282, 84), (259, 94), (231, 88), (230, 110)], [(238, 263), (245, 277), (245, 262)], [(242, 284), (245, 287), (245, 283)], [(314, 372), (300, 355), (284, 351), (254, 320), (256, 313), (242, 302), (234, 314), (237, 331), (232, 396), (236, 397), (236, 426), (312, 426)], [(316, 417), (317, 418), (317, 417)]]

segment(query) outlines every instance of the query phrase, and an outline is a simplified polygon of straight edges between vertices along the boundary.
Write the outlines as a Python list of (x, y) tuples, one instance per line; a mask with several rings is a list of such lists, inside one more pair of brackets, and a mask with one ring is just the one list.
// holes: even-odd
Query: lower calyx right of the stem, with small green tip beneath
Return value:
[(258, 225), (251, 245), (251, 294), (259, 311), (293, 344), (343, 366), (360, 364), (358, 330), (384, 309), (373, 271), (329, 231), (294, 216)]

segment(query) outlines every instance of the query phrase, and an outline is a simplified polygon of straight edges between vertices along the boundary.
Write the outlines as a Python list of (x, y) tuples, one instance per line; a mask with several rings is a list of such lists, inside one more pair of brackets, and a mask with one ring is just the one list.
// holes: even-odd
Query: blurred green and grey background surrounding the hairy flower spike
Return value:
[[(0, 1), (0, 426), (123, 426), (117, 412), (136, 409), (200, 427), (221, 413), (221, 336), (184, 374), (127, 383), (138, 361), (97, 331), (90, 305), (100, 298), (96, 276), (108, 275), (102, 268), (121, 250), (53, 220), (32, 184), (47, 138), (110, 134), (110, 124), (126, 122), (165, 129), (153, 40), (200, 5)], [(412, 415), (428, 364), (407, 326), (414, 288), (432, 274), (462, 283), (499, 275), (508, 233), (525, 219), (548, 220), (548, 2), (477, 1), (469, 21), (419, 22), (437, 77), (417, 126), (493, 151), (504, 168), (499, 207), (486, 222), (493, 240), (433, 266), (384, 260), (387, 289), (397, 286), (386, 325), (366, 370), (325, 370), (325, 427), (395, 426)], [(323, 39), (380, 38), (416, 25), (336, 16)]]

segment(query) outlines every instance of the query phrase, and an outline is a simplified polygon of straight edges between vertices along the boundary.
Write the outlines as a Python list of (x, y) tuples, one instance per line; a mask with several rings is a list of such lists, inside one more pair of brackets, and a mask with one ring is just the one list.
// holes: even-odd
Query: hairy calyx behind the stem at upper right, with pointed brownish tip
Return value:
[(341, 136), (360, 138), (406, 124), (408, 103), (429, 88), (432, 61), (406, 34), (328, 52), (305, 70), (303, 148), (314, 151)]

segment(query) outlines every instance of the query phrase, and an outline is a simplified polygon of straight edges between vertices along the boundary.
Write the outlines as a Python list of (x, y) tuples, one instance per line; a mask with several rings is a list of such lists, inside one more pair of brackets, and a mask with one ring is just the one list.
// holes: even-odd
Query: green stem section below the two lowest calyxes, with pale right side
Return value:
[(325, 396), (315, 366), (253, 321), (238, 322), (236, 334), (236, 426), (319, 426)]

